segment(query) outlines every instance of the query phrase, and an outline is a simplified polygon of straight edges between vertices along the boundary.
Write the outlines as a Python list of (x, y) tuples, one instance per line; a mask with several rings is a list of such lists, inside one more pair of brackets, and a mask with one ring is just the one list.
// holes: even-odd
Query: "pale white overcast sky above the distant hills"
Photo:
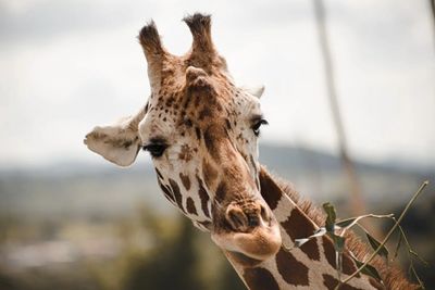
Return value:
[[(428, 1), (324, 3), (350, 154), (434, 167)], [(0, 166), (96, 162), (84, 136), (149, 96), (140, 27), (153, 18), (183, 54), (191, 36), (181, 20), (197, 11), (213, 15), (236, 83), (265, 85), (262, 142), (336, 152), (312, 1), (0, 0)]]

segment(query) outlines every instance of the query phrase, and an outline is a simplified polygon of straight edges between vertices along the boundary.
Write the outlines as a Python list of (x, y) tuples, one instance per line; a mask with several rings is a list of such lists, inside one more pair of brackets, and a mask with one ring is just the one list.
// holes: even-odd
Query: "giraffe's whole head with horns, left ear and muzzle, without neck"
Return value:
[(167, 200), (233, 259), (253, 265), (282, 243), (260, 193), (263, 89), (236, 87), (212, 42), (210, 16), (184, 21), (194, 41), (183, 56), (164, 49), (153, 22), (140, 30), (151, 96), (136, 115), (96, 127), (85, 143), (122, 166), (149, 151)]

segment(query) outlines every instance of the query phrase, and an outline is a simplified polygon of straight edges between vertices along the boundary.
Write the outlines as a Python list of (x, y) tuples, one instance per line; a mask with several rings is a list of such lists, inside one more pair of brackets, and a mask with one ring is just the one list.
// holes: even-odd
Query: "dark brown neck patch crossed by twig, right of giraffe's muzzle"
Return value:
[[(283, 228), (286, 230), (287, 235), (295, 239), (307, 238), (311, 236), (315, 228), (314, 225), (308, 219), (307, 216), (298, 209), (295, 207), (287, 220), (281, 223)], [(316, 239), (312, 239), (306, 242), (300, 250), (306, 253), (311, 260), (320, 260), (320, 251), (318, 247)]]

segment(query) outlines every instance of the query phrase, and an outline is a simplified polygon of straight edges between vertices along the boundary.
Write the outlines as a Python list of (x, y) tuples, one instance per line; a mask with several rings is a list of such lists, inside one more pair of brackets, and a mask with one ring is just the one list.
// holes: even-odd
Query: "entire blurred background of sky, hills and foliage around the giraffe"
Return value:
[[(213, 15), (237, 84), (266, 87), (260, 160), (272, 172), (340, 217), (399, 213), (435, 181), (433, 8), (0, 0), (0, 289), (244, 289), (209, 235), (165, 201), (147, 154), (122, 169), (83, 144), (94, 126), (146, 102), (136, 36), (150, 18), (182, 54), (191, 41), (182, 17)], [(431, 185), (403, 222), (430, 264), (434, 217)], [(415, 267), (435, 287), (434, 268)]]

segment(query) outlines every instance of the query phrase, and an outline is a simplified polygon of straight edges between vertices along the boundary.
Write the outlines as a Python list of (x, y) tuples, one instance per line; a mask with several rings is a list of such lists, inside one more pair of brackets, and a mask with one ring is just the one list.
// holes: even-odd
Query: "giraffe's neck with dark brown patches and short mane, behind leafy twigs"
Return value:
[[(260, 182), (261, 193), (279, 223), (283, 248), (275, 256), (253, 267), (241, 266), (233, 253), (226, 252), (239, 277), (251, 290), (334, 289), (339, 280), (332, 240), (323, 236), (300, 248), (294, 248), (295, 239), (311, 236), (319, 225), (323, 224), (323, 215), (310, 202), (300, 201), (298, 193), (288, 184), (273, 178), (264, 167), (260, 173)], [(352, 251), (360, 260), (368, 253), (365, 247), (352, 234), (348, 238), (347, 250), (343, 255), (341, 279), (357, 270), (348, 251)], [(375, 260), (374, 266), (384, 283), (366, 275), (357, 275), (340, 289), (417, 289), (398, 270), (385, 270), (387, 267), (382, 260)]]

